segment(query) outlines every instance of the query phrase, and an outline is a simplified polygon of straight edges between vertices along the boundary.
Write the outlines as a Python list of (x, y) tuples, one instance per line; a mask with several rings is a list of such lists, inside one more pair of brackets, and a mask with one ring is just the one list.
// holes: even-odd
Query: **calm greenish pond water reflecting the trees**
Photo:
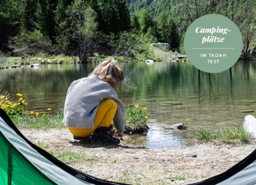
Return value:
[[(256, 107), (256, 63), (239, 62), (230, 70), (209, 74), (191, 63), (121, 63), (125, 83), (119, 98), (126, 106), (147, 107), (147, 138), (132, 138), (148, 147), (192, 142), (196, 130), (241, 126)], [(46, 112), (64, 106), (68, 86), (86, 77), (95, 64), (42, 65), (38, 69), (0, 70), (0, 89), (23, 93), (29, 110)], [(170, 130), (184, 122), (187, 130)], [(144, 139), (144, 140), (143, 140)]]

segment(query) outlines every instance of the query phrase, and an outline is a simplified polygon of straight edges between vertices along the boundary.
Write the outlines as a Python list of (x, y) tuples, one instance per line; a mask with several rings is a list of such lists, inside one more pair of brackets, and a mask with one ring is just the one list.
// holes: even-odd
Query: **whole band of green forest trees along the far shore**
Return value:
[(126, 55), (168, 42), (183, 51), (186, 28), (210, 13), (232, 19), (244, 55), (256, 44), (255, 0), (1, 0), (0, 55)]

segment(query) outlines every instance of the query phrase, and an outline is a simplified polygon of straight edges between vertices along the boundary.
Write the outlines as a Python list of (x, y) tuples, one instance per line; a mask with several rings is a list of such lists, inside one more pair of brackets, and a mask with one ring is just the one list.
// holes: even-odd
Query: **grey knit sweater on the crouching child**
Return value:
[(102, 100), (117, 102), (114, 124), (117, 130), (124, 131), (124, 104), (109, 83), (96, 75), (75, 80), (70, 85), (64, 103), (64, 125), (81, 129), (94, 127), (94, 118)]

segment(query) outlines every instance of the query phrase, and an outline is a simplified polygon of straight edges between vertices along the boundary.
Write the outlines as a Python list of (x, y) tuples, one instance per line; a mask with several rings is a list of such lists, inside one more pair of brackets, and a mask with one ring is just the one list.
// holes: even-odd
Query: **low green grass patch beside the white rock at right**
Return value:
[(195, 134), (200, 142), (217, 142), (222, 144), (248, 144), (252, 136), (243, 128), (224, 130), (199, 130)]

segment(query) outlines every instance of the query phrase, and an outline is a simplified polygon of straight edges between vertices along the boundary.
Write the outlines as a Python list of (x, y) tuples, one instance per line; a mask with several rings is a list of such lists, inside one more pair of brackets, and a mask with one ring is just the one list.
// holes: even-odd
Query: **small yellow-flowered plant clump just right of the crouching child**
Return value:
[(146, 124), (147, 119), (147, 107), (139, 107), (139, 104), (135, 104), (125, 108), (125, 121), (128, 124), (142, 126)]

